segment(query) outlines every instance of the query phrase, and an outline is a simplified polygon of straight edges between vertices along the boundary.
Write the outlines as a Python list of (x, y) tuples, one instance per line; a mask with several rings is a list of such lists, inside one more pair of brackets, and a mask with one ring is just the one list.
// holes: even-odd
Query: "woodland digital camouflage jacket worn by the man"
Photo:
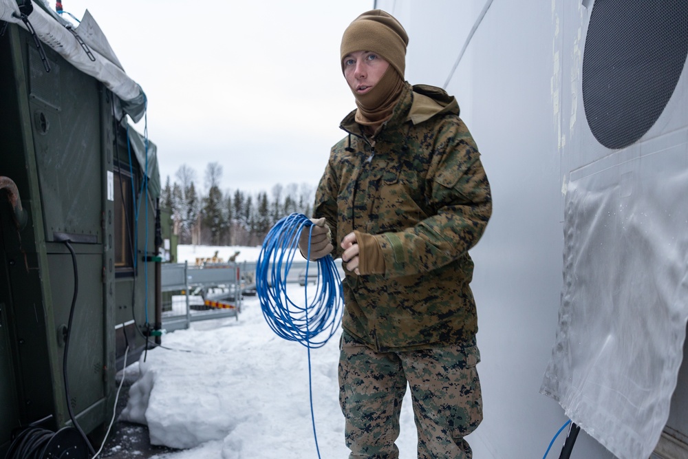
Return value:
[(468, 250), (485, 230), (492, 198), (458, 103), (440, 88), (407, 84), (374, 138), (355, 112), (341, 123), (349, 134), (332, 147), (314, 217), (332, 229), (335, 258), (348, 233), (374, 235), (385, 274), (345, 269), (343, 328), (380, 351), (471, 345), (477, 315)]

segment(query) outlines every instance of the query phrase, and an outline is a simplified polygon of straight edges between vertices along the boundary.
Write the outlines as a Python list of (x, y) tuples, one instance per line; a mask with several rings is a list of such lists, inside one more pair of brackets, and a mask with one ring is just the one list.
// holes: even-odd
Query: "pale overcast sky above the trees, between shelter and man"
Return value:
[[(205, 190), (209, 162), (222, 189), (315, 186), (338, 125), (354, 109), (339, 65), (344, 29), (372, 0), (63, 0), (89, 10), (148, 98), (160, 180), (180, 165)], [(136, 129), (143, 133), (143, 120)]]

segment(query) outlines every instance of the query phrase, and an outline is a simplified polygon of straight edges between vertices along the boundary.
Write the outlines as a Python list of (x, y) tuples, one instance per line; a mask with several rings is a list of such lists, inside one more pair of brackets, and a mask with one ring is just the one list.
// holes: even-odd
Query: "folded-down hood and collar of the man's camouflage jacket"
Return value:
[[(454, 96), (449, 96), (444, 89), (431, 85), (409, 85), (402, 92), (399, 102), (394, 107), (394, 114), (386, 123), (389, 126), (398, 125), (401, 122), (411, 121), (414, 125), (427, 121), (433, 116), (444, 114), (459, 114), (459, 104)], [(348, 114), (341, 122), (340, 127), (350, 133), (361, 133), (361, 125), (358, 125), (354, 116), (356, 110)]]

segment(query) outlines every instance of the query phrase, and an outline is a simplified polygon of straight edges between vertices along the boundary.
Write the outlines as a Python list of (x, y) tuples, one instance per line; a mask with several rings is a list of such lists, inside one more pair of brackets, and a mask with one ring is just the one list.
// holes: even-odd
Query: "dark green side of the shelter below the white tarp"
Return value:
[[(136, 361), (155, 317), (155, 264), (144, 261), (155, 255), (155, 201), (140, 200), (147, 222), (133, 218), (142, 168), (128, 154), (116, 99), (43, 49), (50, 72), (28, 32), (10, 24), (0, 38), (0, 176), (17, 185), (27, 217), (18, 228), (0, 191), (0, 457), (13, 429), (46, 416), (46, 429), (71, 425), (67, 403), (98, 442), (113, 413), (118, 363), (127, 345)], [(65, 239), (78, 272), (68, 399), (65, 330), (76, 284)]]

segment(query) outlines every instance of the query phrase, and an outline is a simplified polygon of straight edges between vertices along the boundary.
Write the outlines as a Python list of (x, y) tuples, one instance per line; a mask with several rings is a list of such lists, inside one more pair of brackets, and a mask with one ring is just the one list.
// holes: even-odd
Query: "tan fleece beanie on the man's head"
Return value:
[(408, 44), (406, 30), (391, 14), (383, 10), (367, 11), (354, 19), (344, 31), (339, 56), (342, 73), (344, 56), (355, 51), (372, 51), (389, 62), (403, 79)]

